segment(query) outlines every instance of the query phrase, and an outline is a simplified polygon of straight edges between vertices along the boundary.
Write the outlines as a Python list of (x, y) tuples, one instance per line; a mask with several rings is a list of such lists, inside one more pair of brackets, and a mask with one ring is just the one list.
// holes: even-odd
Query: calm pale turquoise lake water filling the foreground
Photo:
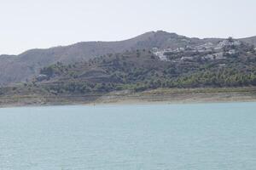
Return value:
[(0, 109), (1, 170), (255, 170), (256, 103)]

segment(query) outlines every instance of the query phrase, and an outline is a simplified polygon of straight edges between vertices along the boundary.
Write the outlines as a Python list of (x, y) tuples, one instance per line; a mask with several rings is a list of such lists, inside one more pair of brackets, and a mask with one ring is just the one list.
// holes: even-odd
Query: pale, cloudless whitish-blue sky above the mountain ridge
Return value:
[(0, 54), (158, 30), (252, 37), (255, 7), (255, 0), (0, 0)]

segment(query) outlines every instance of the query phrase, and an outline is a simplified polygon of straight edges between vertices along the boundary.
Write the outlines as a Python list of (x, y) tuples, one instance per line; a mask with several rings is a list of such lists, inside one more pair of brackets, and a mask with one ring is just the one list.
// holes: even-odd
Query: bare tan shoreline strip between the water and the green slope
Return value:
[[(213, 91), (214, 90), (214, 91)], [(256, 102), (256, 88), (154, 89), (80, 96), (0, 96), (0, 108), (61, 105), (176, 105), (201, 103)]]

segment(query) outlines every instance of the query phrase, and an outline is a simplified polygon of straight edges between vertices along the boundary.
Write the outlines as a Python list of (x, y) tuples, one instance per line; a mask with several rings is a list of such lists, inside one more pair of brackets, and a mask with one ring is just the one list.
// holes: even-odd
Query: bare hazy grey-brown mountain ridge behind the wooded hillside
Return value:
[[(119, 42), (79, 42), (64, 47), (31, 49), (16, 56), (0, 56), (0, 85), (25, 82), (38, 75), (40, 69), (56, 63), (74, 64), (107, 54), (124, 53), (126, 50), (152, 48), (182, 48), (207, 42), (218, 43), (221, 38), (189, 38), (166, 31), (150, 31), (141, 36)], [(253, 38), (242, 39), (254, 42)]]

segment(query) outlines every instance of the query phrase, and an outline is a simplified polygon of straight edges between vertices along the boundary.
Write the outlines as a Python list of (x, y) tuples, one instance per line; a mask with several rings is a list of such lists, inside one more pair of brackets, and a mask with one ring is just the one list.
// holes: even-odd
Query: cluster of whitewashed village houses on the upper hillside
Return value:
[[(243, 42), (229, 38), (218, 43), (206, 42), (199, 46), (185, 46), (183, 48), (153, 48), (153, 53), (163, 61), (183, 62), (212, 59), (226, 59), (239, 54)], [(253, 47), (252, 47), (253, 48)], [(256, 48), (254, 48), (256, 50)]]

